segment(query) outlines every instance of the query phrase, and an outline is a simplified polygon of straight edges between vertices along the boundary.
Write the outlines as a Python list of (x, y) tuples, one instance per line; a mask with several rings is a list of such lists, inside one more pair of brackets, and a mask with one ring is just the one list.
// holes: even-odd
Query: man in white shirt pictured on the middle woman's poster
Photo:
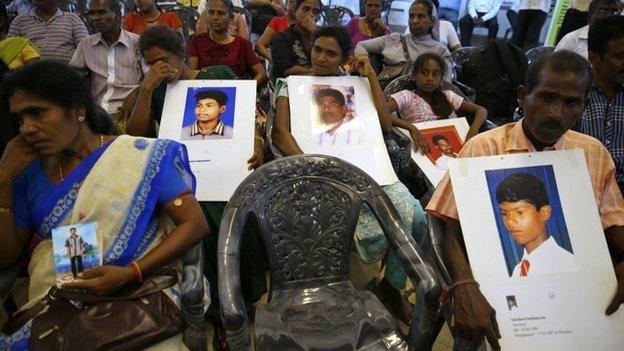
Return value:
[(322, 89), (314, 95), (321, 130), (315, 140), (319, 146), (360, 144), (359, 124), (347, 117), (344, 95), (336, 89)]

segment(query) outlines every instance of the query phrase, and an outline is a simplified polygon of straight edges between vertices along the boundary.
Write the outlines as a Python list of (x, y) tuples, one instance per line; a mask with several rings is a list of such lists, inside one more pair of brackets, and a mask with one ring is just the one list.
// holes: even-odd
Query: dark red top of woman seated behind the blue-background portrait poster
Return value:
[(260, 63), (249, 40), (236, 37), (231, 43), (223, 45), (212, 40), (208, 33), (191, 38), (189, 57), (197, 57), (197, 69), (225, 65), (242, 79), (249, 79), (251, 67)]

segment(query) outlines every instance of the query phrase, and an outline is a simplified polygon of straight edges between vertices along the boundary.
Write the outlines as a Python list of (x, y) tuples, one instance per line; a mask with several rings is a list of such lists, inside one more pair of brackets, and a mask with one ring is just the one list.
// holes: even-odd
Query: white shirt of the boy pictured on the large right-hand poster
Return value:
[(574, 255), (559, 246), (552, 236), (531, 253), (524, 249), (522, 259), (514, 268), (512, 277), (520, 276), (520, 265), (523, 260), (529, 261), (527, 273), (529, 277), (540, 274), (574, 272), (577, 270)]

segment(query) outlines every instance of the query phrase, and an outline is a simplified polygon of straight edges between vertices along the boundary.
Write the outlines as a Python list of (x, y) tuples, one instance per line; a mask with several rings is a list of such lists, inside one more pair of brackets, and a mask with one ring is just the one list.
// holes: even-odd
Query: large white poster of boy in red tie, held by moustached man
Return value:
[(617, 281), (583, 151), (454, 159), (449, 172), (502, 349), (620, 349), (624, 309), (605, 315)]

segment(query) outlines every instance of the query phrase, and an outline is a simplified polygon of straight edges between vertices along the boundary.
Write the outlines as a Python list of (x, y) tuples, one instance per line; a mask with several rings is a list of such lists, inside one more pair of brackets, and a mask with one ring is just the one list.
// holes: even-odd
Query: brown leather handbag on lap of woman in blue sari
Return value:
[[(30, 350), (143, 349), (184, 329), (180, 310), (163, 292), (176, 282), (175, 274), (149, 277), (140, 286), (114, 296), (53, 287), (3, 332), (12, 334), (34, 316)], [(84, 306), (78, 308), (72, 301)]]

